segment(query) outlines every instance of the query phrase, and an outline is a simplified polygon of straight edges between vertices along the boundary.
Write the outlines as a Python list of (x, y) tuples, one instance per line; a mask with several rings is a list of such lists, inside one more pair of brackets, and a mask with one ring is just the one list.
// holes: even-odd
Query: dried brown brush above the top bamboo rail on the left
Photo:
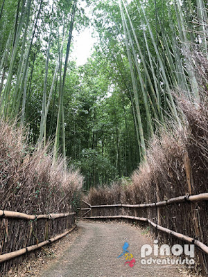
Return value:
[(83, 185), (80, 173), (66, 169), (61, 157), (53, 163), (48, 145), (31, 152), (20, 127), (3, 120), (0, 127), (0, 208), (31, 214), (69, 211)]

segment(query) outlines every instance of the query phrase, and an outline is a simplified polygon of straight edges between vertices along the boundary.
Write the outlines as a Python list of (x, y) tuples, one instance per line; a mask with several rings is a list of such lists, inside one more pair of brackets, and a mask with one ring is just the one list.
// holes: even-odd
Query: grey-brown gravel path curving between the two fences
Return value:
[[(176, 265), (141, 265), (140, 249), (153, 240), (134, 226), (120, 223), (79, 222), (80, 235), (64, 255), (40, 274), (41, 277), (184, 277)], [(123, 244), (135, 258), (135, 266), (125, 265)], [(153, 257), (155, 258), (155, 257)]]

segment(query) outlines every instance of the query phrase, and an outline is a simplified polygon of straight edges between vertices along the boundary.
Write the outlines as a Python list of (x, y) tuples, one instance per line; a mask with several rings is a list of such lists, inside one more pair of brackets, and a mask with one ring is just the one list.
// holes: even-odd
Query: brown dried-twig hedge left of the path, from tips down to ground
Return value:
[[(0, 209), (31, 215), (67, 213), (83, 185), (83, 177), (67, 169), (60, 157), (53, 161), (47, 148), (28, 146), (24, 129), (0, 122)], [(0, 218), (0, 255), (43, 242), (69, 230), (75, 217), (55, 220)], [(0, 275), (25, 257), (1, 264)]]

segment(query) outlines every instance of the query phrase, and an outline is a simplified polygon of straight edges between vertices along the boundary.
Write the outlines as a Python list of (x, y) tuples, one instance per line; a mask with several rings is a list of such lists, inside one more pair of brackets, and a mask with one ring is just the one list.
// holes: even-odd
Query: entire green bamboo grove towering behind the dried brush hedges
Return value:
[[(87, 188), (130, 176), (153, 134), (182, 124), (177, 96), (203, 100), (194, 70), (208, 51), (203, 0), (0, 5), (1, 116), (28, 126), (31, 148), (52, 139), (53, 159), (70, 157)], [(73, 31), (89, 24), (98, 42), (77, 66)]]

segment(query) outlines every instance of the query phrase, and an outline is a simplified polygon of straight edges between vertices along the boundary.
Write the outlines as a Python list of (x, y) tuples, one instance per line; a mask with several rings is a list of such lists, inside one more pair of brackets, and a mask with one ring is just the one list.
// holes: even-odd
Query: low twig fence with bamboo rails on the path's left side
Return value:
[[(28, 215), (26, 213), (0, 210), (0, 274), (6, 274), (11, 265), (17, 264), (17, 260), (10, 262), (10, 264), (8, 263), (9, 260), (44, 247), (73, 231), (76, 228), (75, 215), (76, 213)], [(19, 231), (17, 233), (15, 233), (16, 225)], [(49, 235), (51, 236), (49, 237)], [(17, 248), (16, 245), (12, 245), (14, 237), (19, 237), (21, 246), (24, 247), (3, 253), (8, 248)], [(44, 240), (41, 241), (41, 238), (44, 238)], [(31, 245), (30, 243), (34, 241), (35, 244)], [(9, 244), (9, 247), (7, 244)]]

